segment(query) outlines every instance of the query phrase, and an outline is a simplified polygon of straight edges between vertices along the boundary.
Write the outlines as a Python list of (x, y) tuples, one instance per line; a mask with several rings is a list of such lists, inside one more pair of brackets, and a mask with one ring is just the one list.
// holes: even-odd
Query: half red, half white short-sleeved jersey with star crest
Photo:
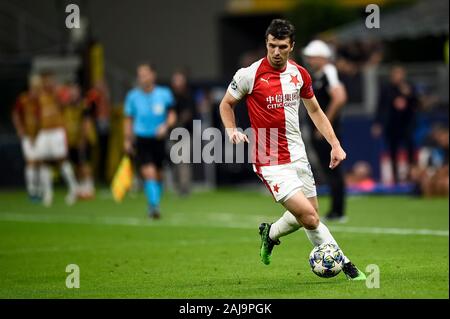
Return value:
[(240, 100), (247, 96), (253, 129), (253, 163), (280, 165), (306, 158), (299, 127), (300, 98), (314, 97), (311, 76), (289, 60), (284, 69), (274, 69), (267, 57), (239, 69), (228, 92)]

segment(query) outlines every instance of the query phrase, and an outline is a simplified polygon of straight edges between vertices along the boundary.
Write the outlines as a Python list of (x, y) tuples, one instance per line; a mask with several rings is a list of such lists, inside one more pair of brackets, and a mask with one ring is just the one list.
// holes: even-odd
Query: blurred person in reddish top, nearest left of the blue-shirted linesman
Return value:
[(106, 183), (111, 102), (108, 86), (105, 81), (97, 81), (97, 83), (95, 83), (94, 86), (87, 92), (86, 103), (88, 109), (91, 110), (94, 116), (95, 129), (97, 133), (97, 145), (99, 150), (99, 179), (101, 182)]

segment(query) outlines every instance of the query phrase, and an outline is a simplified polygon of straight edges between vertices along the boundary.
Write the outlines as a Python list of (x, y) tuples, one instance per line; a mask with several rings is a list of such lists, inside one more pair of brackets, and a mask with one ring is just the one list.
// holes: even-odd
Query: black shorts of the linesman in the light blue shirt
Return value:
[(136, 138), (136, 161), (139, 166), (154, 164), (163, 167), (166, 157), (165, 141), (156, 138)]

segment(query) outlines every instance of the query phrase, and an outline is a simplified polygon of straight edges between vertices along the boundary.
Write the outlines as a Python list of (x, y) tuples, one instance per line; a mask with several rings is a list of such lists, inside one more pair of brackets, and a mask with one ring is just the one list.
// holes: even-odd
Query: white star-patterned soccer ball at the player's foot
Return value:
[(342, 250), (332, 243), (314, 247), (309, 254), (311, 270), (319, 277), (331, 278), (339, 274), (344, 265)]

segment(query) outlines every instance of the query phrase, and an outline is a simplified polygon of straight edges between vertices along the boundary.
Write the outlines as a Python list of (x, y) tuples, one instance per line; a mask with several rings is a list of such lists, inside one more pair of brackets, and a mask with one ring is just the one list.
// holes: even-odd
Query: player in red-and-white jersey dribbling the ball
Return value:
[[(220, 114), (230, 142), (249, 142), (238, 131), (234, 107), (247, 97), (251, 126), (255, 135), (254, 170), (274, 199), (286, 212), (273, 224), (262, 223), (260, 256), (271, 262), (279, 238), (301, 227), (314, 246), (336, 244), (319, 219), (314, 177), (299, 129), (298, 108), (303, 101), (319, 132), (331, 145), (329, 167), (335, 169), (346, 157), (326, 115), (314, 96), (308, 72), (289, 59), (294, 48), (294, 26), (275, 19), (266, 31), (267, 56), (236, 72), (220, 104)], [(269, 131), (269, 134), (267, 134)], [(348, 279), (364, 280), (365, 275), (347, 258), (343, 272)]]

